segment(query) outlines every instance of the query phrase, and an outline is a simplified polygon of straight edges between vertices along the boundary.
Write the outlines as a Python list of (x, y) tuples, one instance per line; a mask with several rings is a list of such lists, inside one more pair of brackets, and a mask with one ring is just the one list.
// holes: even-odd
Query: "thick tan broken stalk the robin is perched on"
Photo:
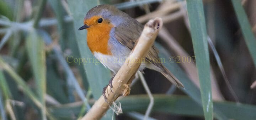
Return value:
[(113, 92), (111, 92), (110, 86), (106, 88), (106, 93), (109, 94), (106, 94), (107, 102), (105, 101), (103, 95), (101, 95), (101, 97), (95, 102), (95, 104), (82, 118), (82, 120), (100, 119), (106, 113), (112, 102), (114, 102), (120, 95), (123, 95), (123, 91), (127, 91), (127, 83), (130, 82), (129, 80), (131, 78), (133, 78), (141, 64), (141, 62), (137, 61), (145, 58), (146, 54), (149, 52), (149, 49), (153, 45), (161, 27), (161, 18), (155, 18), (154, 20), (149, 20), (149, 22), (146, 23), (134, 49), (120, 70), (117, 72), (116, 76), (113, 78)]

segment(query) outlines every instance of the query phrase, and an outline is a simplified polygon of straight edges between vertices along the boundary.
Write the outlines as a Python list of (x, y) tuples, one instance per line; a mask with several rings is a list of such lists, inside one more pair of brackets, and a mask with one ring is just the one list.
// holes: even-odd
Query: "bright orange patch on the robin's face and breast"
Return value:
[(87, 44), (92, 54), (94, 52), (105, 55), (112, 54), (108, 46), (111, 28), (111, 24), (98, 24), (87, 28)]

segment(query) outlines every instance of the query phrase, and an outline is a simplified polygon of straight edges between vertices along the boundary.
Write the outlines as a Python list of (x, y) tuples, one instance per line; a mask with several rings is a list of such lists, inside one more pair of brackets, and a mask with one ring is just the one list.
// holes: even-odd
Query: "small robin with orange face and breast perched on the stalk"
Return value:
[[(112, 5), (98, 5), (87, 12), (84, 26), (79, 30), (87, 29), (87, 45), (92, 54), (105, 67), (117, 73), (135, 46), (143, 27)], [(153, 69), (162, 73), (172, 84), (184, 87), (158, 60), (158, 49), (152, 46), (139, 70)]]

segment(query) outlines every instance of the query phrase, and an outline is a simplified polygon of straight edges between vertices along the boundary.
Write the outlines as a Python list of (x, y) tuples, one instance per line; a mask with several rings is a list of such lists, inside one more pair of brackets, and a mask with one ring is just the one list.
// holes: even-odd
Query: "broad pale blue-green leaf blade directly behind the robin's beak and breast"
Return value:
[[(83, 24), (83, 19), (87, 11), (97, 5), (96, 0), (68, 0), (68, 5), (74, 18), (75, 39), (78, 44), (80, 57), (95, 60), (86, 42), (86, 30), (78, 31)], [(88, 83), (92, 89), (92, 95), (98, 99), (102, 94), (102, 89), (108, 84), (111, 78), (110, 71), (101, 64), (82, 63), (87, 76)], [(102, 88), (102, 89), (99, 89)], [(112, 111), (108, 111), (103, 119), (112, 119)]]

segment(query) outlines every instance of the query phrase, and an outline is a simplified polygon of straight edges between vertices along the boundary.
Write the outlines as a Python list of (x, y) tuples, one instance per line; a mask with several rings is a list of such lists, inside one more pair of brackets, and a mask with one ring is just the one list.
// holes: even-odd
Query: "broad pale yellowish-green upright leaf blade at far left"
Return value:
[(31, 62), (33, 76), (36, 83), (36, 90), (39, 101), (41, 102), (42, 119), (46, 120), (46, 56), (45, 45), (41, 36), (35, 30), (31, 30), (26, 38), (26, 48), (28, 58)]

